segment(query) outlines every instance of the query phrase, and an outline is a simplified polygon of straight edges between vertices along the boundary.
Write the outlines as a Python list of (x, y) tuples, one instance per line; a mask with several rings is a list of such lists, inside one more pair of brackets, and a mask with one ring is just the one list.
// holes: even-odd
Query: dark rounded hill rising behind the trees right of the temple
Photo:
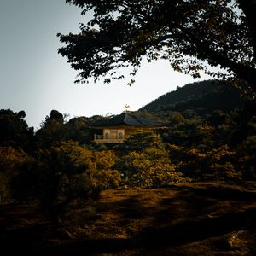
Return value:
[(139, 112), (194, 110), (197, 114), (212, 113), (214, 110), (229, 112), (244, 105), (240, 93), (229, 84), (207, 80), (177, 87), (177, 90), (160, 96), (148, 103)]

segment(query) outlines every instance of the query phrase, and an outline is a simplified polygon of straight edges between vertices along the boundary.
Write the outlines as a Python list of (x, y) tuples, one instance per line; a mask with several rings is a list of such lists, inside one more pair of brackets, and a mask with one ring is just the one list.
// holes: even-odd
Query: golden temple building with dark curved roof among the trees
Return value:
[(153, 120), (137, 117), (131, 112), (123, 112), (109, 119), (103, 119), (91, 124), (90, 127), (101, 130), (94, 135), (95, 143), (124, 143), (132, 131), (148, 130), (162, 127), (163, 124)]

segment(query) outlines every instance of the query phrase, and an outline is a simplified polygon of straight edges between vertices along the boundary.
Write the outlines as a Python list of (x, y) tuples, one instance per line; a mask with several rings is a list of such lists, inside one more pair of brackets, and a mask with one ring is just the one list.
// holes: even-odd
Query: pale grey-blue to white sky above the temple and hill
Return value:
[(24, 110), (39, 128), (52, 109), (77, 116), (131, 111), (169, 91), (198, 80), (172, 71), (167, 61), (143, 61), (131, 87), (128, 80), (74, 84), (77, 72), (57, 53), (56, 34), (79, 32), (89, 17), (65, 0), (0, 0), (0, 109)]

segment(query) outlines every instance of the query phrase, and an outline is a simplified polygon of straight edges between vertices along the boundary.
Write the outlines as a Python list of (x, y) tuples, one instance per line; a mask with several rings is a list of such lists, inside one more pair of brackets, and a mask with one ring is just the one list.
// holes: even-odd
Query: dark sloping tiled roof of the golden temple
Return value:
[(143, 127), (158, 127), (163, 126), (163, 124), (154, 122), (149, 119), (144, 119), (142, 117), (137, 117), (132, 113), (121, 113), (110, 119), (104, 119), (96, 121), (90, 126), (118, 126), (118, 125), (130, 125), (130, 126), (143, 126)]

